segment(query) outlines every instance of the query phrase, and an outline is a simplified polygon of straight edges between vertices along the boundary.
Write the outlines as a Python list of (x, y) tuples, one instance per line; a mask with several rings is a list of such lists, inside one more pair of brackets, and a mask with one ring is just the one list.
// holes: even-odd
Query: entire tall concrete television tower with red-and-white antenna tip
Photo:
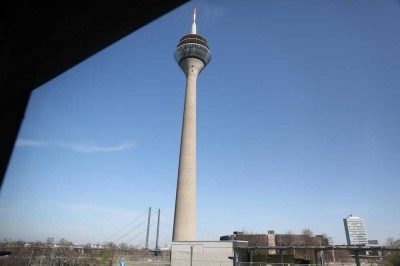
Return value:
[(172, 241), (194, 241), (196, 240), (196, 80), (211, 60), (206, 39), (196, 33), (196, 8), (193, 13), (192, 32), (180, 39), (174, 56), (186, 76), (186, 95)]

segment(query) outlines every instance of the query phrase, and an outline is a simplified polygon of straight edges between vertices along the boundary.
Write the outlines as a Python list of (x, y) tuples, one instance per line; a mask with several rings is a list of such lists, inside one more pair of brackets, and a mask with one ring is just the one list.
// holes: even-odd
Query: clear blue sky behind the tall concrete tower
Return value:
[(194, 7), (213, 54), (197, 91), (198, 238), (310, 228), (344, 244), (349, 214), (369, 239), (400, 238), (390, 0), (191, 1), (37, 88), (0, 237), (102, 242), (152, 207), (169, 241), (185, 89), (173, 53)]

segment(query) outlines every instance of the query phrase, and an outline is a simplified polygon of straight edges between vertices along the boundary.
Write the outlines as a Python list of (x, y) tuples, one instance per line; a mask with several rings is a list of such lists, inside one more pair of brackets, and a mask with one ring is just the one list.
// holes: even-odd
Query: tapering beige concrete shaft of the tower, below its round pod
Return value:
[(180, 63), (186, 74), (173, 241), (196, 240), (196, 82), (202, 61), (187, 58)]

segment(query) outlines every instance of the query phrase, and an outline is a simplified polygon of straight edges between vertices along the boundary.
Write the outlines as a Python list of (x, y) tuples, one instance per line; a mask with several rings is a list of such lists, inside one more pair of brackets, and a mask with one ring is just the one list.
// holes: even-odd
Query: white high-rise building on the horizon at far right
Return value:
[(346, 232), (347, 245), (368, 244), (363, 218), (350, 215), (343, 219), (343, 223)]

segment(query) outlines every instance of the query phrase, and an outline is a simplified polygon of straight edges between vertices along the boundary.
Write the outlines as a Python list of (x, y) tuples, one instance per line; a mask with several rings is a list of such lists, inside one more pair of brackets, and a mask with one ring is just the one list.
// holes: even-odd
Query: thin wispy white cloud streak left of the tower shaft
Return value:
[(82, 153), (105, 153), (105, 152), (117, 152), (117, 151), (129, 150), (134, 148), (136, 144), (133, 141), (129, 141), (114, 146), (97, 146), (97, 145), (82, 145), (82, 144), (71, 144), (71, 143), (47, 143), (31, 139), (17, 139), (16, 146), (17, 147), (51, 146)]

